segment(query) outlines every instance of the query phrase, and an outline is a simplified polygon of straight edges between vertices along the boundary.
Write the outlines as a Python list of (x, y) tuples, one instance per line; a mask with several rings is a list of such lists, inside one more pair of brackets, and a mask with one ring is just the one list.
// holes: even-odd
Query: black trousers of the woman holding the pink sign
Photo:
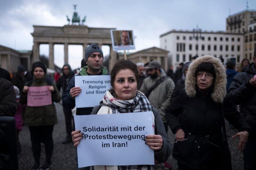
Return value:
[(40, 163), (41, 141), (45, 145), (45, 162), (51, 163), (53, 152), (52, 131), (54, 125), (28, 126), (32, 144), (32, 151), (36, 163)]

